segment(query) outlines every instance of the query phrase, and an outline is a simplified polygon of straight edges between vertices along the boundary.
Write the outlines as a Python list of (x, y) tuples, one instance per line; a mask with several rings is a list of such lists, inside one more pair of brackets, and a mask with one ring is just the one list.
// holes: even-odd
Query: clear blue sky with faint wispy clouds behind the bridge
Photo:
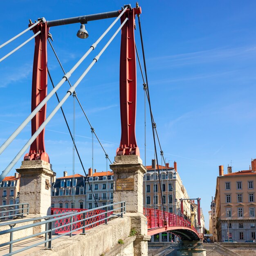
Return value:
[[(27, 28), (28, 20), (68, 18), (115, 11), (122, 1), (4, 1), (1, 3), (0, 43)], [(135, 6), (135, 2), (131, 2)], [(191, 198), (201, 197), (206, 227), (211, 196), (215, 193), (218, 165), (233, 171), (249, 168), (256, 158), (256, 2), (255, 1), (140, 1), (141, 26), (148, 68), (148, 83), (166, 161), (177, 162), (177, 171)], [(89, 22), (89, 38), (76, 37), (78, 24), (52, 27), (53, 45), (66, 71), (79, 60), (110, 25), (111, 20)], [(119, 25), (119, 23), (118, 23)], [(115, 28), (118, 27), (115, 26)], [(138, 26), (137, 26), (138, 27)], [(74, 83), (97, 55), (114, 30), (72, 75)], [(7, 54), (32, 35), (27, 32), (0, 49)], [(140, 49), (139, 31), (135, 31)], [(76, 92), (110, 159), (120, 141), (119, 114), (120, 34), (83, 79)], [(0, 63), (0, 144), (30, 111), (34, 42)], [(141, 51), (140, 51), (141, 55)], [(142, 57), (141, 57), (142, 58)], [(55, 84), (63, 76), (48, 47), (48, 67)], [(63, 96), (69, 85), (58, 92)], [(52, 90), (50, 81), (48, 90)], [(144, 92), (137, 76), (137, 142), (144, 160)], [(53, 97), (47, 113), (56, 106)], [(73, 99), (63, 106), (70, 126)], [(147, 115), (147, 164), (153, 154), (152, 131)], [(45, 146), (57, 176), (72, 174), (72, 141), (61, 112), (45, 131)], [(30, 126), (0, 156), (3, 170), (30, 136)], [(85, 168), (92, 166), (92, 139), (88, 123), (76, 105), (76, 144)], [(160, 156), (159, 156), (160, 157)], [(16, 164), (18, 168), (21, 160)], [(94, 168), (106, 171), (106, 160), (94, 142)], [(10, 174), (13, 174), (13, 169)], [(76, 157), (75, 173), (82, 169)]]

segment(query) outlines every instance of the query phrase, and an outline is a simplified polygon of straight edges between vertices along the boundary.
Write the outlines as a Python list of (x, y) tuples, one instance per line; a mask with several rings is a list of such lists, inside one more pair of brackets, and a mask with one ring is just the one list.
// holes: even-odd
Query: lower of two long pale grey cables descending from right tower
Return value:
[[(87, 67), (87, 69), (85, 70), (85, 72), (83, 72), (83, 74), (79, 77), (79, 79), (76, 81), (76, 83), (74, 83), (74, 85), (67, 91), (67, 94), (63, 97), (63, 99), (60, 101), (60, 103), (58, 103), (58, 105), (54, 108), (54, 110), (49, 114), (49, 116), (45, 119), (45, 121), (43, 122), (43, 124), (41, 124), (41, 126), (36, 130), (36, 132), (32, 135), (32, 137), (27, 141), (27, 143), (23, 146), (23, 148), (19, 151), (19, 153), (13, 158), (13, 160), (11, 161), (11, 163), (4, 169), (4, 171), (1, 173), (0, 175), (0, 182), (2, 182), (2, 180), (4, 179), (4, 177), (7, 176), (7, 174), (11, 171), (11, 169), (13, 168), (13, 166), (18, 162), (18, 160), (20, 159), (20, 157), (22, 157), (22, 155), (26, 152), (27, 148), (31, 145), (31, 143), (36, 139), (36, 137), (40, 134), (40, 132), (45, 128), (45, 126), (49, 123), (49, 121), (52, 119), (52, 117), (54, 117), (54, 115), (56, 114), (56, 112), (61, 108), (61, 106), (64, 104), (64, 102), (68, 99), (68, 97), (70, 95), (72, 95), (72, 93), (75, 91), (77, 85), (79, 85), (79, 83), (82, 81), (82, 79), (85, 77), (85, 75), (89, 72), (89, 70), (92, 68), (92, 66), (99, 60), (100, 56), (103, 54), (103, 52), (106, 50), (106, 48), (108, 47), (108, 45), (110, 45), (110, 43), (112, 42), (112, 40), (115, 38), (115, 36), (117, 35), (117, 33), (121, 30), (121, 28), (124, 26), (124, 24), (126, 23), (126, 21), (128, 20), (128, 18), (126, 18), (124, 20), (124, 22), (121, 24), (121, 26), (117, 29), (117, 31), (115, 32), (115, 34), (113, 34), (113, 36), (110, 38), (110, 40), (108, 40), (108, 42), (106, 43), (106, 45), (101, 49), (101, 51), (99, 52), (99, 54), (97, 56), (94, 57), (92, 63)], [(40, 105), (40, 104), (39, 104)], [(38, 106), (39, 106), (38, 105)]]

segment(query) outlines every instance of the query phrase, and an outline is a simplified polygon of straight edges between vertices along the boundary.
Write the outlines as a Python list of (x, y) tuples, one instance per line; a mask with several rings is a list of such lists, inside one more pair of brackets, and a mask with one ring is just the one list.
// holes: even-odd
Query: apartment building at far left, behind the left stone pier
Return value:
[[(1, 205), (18, 204), (19, 203), (19, 192), (20, 192), (20, 175), (15, 173), (14, 176), (5, 177), (0, 183), (0, 198)], [(15, 210), (17, 207), (1, 207), (0, 211)], [(2, 213), (0, 217), (7, 218), (7, 215), (14, 214), (13, 211)], [(1, 218), (2, 220), (4, 218)], [(10, 217), (11, 218), (11, 217)]]

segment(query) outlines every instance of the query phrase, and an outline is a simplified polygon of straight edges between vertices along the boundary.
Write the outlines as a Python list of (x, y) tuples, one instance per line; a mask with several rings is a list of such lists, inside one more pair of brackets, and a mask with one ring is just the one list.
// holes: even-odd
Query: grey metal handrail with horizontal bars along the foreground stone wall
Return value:
[[(117, 204), (121, 204), (121, 206), (116, 208), (115, 211), (120, 210), (120, 212), (113, 213), (113, 210), (109, 210), (109, 211), (107, 210), (109, 207), (112, 207), (112, 206), (117, 205)], [(64, 209), (65, 208), (63, 208), (63, 210)], [(70, 210), (74, 210), (74, 209), (70, 209)], [(104, 211), (102, 211), (102, 213), (86, 217), (87, 213), (97, 211), (97, 210), (104, 210)], [(97, 224), (97, 225), (100, 225), (100, 224), (103, 224), (103, 223), (108, 224), (108, 219), (109, 218), (112, 218), (112, 217), (115, 217), (115, 216), (123, 217), (123, 214), (125, 212), (126, 212), (126, 204), (125, 204), (124, 201), (122, 201), (122, 202), (112, 203), (112, 204), (104, 205), (104, 206), (89, 209), (89, 210), (79, 211), (79, 212), (73, 212), (72, 211), (72, 212), (68, 212), (68, 213), (65, 212), (65, 213), (58, 213), (58, 214), (54, 214), (54, 215), (48, 215), (48, 216), (40, 217), (40, 218), (37, 218), (37, 219), (45, 219), (45, 220), (42, 221), (42, 222), (36, 222), (36, 223), (25, 225), (25, 226), (22, 226), (22, 227), (14, 228), (16, 223), (20, 223), (22, 221), (9, 222), (8, 224), (5, 224), (5, 225), (10, 225), (11, 228), (8, 229), (8, 230), (0, 231), (0, 236), (3, 235), (3, 234), (10, 234), (10, 241), (6, 242), (6, 243), (3, 243), (3, 244), (0, 244), (0, 247), (9, 245), (9, 254), (5, 254), (6, 256), (17, 254), (17, 253), (23, 252), (27, 249), (30, 249), (32, 247), (36, 247), (36, 246), (42, 245), (42, 244), (45, 244), (45, 247), (47, 247), (47, 249), (50, 249), (52, 247), (52, 241), (57, 239), (57, 238), (60, 238), (62, 236), (66, 236), (67, 234), (70, 234), (70, 236), (72, 236), (72, 233), (74, 233), (75, 231), (78, 231), (78, 230), (82, 230), (82, 234), (85, 234), (85, 228), (90, 227), (90, 226), (95, 225), (95, 224)], [(61, 216), (61, 215), (63, 215), (63, 216)], [(77, 217), (78, 216), (83, 216), (83, 217), (78, 218), (78, 220), (74, 221), (74, 217), (76, 217), (76, 216)], [(92, 218), (95, 218), (97, 216), (102, 216), (102, 218), (97, 218), (96, 221), (90, 222), (89, 224), (86, 223), (86, 221), (91, 220)], [(33, 220), (35, 220), (35, 219), (33, 219)], [(53, 227), (53, 223), (57, 222), (58, 220), (65, 220), (65, 221), (63, 221), (63, 223), (65, 223), (65, 224), (60, 225), (58, 227), (55, 227), (55, 226)], [(29, 220), (25, 220), (23, 222), (27, 222), (27, 221), (29, 221)], [(70, 222), (67, 223), (67, 221), (70, 221)], [(78, 225), (79, 226), (78, 228), (73, 229), (72, 226), (74, 224), (77, 224), (77, 223), (80, 223), (80, 224), (82, 223), (82, 225), (81, 226)], [(24, 238), (19, 238), (19, 239), (13, 240), (13, 232), (20, 231), (20, 230), (23, 230), (23, 229), (28, 229), (28, 228), (31, 228), (31, 227), (40, 226), (40, 225), (45, 225), (45, 231), (42, 231), (42, 232), (36, 233), (36, 234), (32, 234), (30, 236), (26, 236)], [(70, 226), (70, 231), (67, 231), (63, 234), (52, 237), (53, 231), (55, 231), (57, 229), (60, 229), (60, 228), (63, 228), (63, 227), (68, 227), (68, 226)], [(20, 242), (22, 240), (26, 240), (28, 238), (33, 238), (35, 236), (41, 236), (41, 235), (44, 235), (44, 234), (45, 234), (45, 240), (43, 240), (39, 243), (36, 243), (34, 245), (30, 245), (30, 246), (27, 246), (25, 248), (19, 249), (15, 252), (12, 251), (13, 243), (17, 243), (17, 242)]]

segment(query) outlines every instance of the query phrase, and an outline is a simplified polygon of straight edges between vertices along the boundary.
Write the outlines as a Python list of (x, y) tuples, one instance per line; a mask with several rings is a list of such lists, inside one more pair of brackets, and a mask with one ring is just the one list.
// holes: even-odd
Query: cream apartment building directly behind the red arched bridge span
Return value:
[[(189, 198), (179, 173), (177, 172), (177, 163), (174, 162), (174, 167), (166, 164), (166, 167), (159, 165), (160, 183), (157, 171), (157, 163), (152, 159), (152, 164), (146, 166), (147, 173), (144, 175), (143, 183), (143, 197), (144, 207), (162, 210), (162, 198), (160, 188), (162, 188), (164, 211), (170, 213), (181, 214), (180, 212), (180, 199)], [(169, 175), (169, 178), (168, 178)], [(160, 187), (161, 186), (161, 187)], [(183, 201), (184, 218), (191, 218), (191, 207), (189, 200)], [(152, 236), (151, 241), (155, 242), (171, 242), (177, 241), (177, 238), (171, 233), (160, 233)]]

